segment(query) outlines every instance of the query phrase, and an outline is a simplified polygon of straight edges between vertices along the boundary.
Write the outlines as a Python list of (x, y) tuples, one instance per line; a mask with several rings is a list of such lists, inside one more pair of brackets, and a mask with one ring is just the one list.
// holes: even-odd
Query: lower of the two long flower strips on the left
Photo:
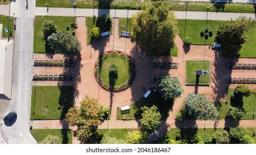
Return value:
[(63, 75), (63, 74), (33, 74), (34, 81), (64, 81), (74, 80), (74, 75)]

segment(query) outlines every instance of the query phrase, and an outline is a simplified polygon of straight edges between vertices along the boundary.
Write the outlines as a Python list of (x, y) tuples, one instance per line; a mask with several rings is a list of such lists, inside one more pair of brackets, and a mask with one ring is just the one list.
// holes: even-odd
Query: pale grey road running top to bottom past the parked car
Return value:
[[(10, 123), (3, 123), (3, 131), (9, 143), (36, 143), (29, 133), (33, 69), (33, 34), (35, 1), (11, 3), (11, 16), (17, 17), (13, 51), (12, 100), (10, 110), (17, 117)], [(2, 137), (1, 137), (2, 138)]]

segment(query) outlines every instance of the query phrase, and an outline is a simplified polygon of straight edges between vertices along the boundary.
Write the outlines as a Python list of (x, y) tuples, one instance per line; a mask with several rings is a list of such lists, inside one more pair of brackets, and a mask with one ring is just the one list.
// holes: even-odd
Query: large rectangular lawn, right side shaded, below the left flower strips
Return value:
[(70, 107), (73, 107), (73, 87), (33, 86), (31, 119), (64, 119)]

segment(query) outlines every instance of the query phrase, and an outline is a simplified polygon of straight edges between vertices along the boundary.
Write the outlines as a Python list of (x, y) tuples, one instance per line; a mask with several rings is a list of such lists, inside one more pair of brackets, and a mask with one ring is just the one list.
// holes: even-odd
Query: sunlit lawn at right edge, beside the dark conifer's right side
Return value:
[(256, 58), (256, 25), (245, 33), (247, 41), (242, 45), (240, 58)]

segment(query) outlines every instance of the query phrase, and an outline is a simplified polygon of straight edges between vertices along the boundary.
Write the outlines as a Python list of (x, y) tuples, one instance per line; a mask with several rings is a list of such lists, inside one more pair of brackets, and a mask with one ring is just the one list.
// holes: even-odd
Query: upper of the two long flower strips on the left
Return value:
[(74, 66), (74, 60), (34, 60), (34, 66)]

